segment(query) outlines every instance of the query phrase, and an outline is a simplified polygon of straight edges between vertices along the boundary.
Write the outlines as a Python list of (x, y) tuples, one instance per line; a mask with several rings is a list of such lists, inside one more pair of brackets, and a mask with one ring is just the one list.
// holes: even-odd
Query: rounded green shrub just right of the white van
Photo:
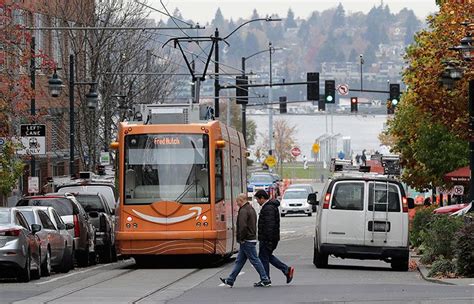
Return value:
[(452, 259), (454, 255), (455, 234), (463, 226), (463, 219), (448, 215), (436, 215), (422, 234), (423, 245), (434, 259), (444, 256)]

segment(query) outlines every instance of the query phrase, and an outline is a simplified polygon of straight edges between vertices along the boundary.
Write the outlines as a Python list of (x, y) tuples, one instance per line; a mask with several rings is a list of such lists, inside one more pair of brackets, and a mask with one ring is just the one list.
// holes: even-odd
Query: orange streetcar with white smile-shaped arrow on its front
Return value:
[(234, 198), (247, 184), (242, 134), (219, 121), (188, 121), (189, 106), (142, 110), (149, 113), (144, 121), (120, 123), (118, 142), (112, 144), (118, 150), (118, 251), (137, 261), (232, 255)]

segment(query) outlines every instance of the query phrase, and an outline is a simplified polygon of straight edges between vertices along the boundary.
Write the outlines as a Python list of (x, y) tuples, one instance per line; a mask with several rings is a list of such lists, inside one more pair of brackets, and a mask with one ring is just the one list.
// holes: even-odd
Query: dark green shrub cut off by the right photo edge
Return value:
[(454, 252), (457, 259), (456, 272), (462, 276), (474, 277), (474, 222), (456, 233)]

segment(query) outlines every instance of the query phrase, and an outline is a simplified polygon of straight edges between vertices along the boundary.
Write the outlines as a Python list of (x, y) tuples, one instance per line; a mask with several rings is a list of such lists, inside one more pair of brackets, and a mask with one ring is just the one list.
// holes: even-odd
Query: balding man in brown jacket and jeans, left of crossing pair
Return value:
[(239, 194), (237, 197), (237, 205), (239, 206), (239, 213), (237, 214), (237, 242), (240, 244), (240, 249), (232, 272), (227, 278), (220, 278), (220, 280), (230, 287), (234, 286), (240, 270), (242, 270), (248, 259), (260, 275), (260, 282), (255, 283), (254, 286), (271, 286), (271, 281), (257, 256), (257, 213), (247, 201), (247, 195), (244, 193)]

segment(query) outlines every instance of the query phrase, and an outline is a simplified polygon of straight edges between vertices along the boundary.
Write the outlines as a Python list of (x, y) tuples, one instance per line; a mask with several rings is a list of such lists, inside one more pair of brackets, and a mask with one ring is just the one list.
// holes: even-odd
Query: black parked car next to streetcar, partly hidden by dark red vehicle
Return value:
[(110, 263), (117, 260), (115, 249), (115, 216), (105, 197), (100, 193), (74, 193), (77, 201), (89, 215), (95, 228), (95, 249), (99, 261)]

